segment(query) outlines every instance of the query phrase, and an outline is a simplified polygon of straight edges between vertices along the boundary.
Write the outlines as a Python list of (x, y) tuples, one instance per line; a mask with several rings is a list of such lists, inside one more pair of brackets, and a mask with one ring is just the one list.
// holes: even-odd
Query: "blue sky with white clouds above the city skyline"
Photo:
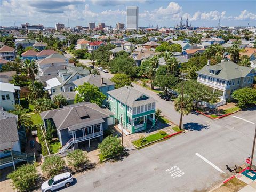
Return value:
[(174, 27), (189, 18), (191, 26), (256, 26), (256, 1), (167, 0), (0, 0), (0, 26), (43, 24), (54, 27), (88, 26), (89, 22), (115, 27), (125, 23), (126, 6), (139, 7), (139, 27)]

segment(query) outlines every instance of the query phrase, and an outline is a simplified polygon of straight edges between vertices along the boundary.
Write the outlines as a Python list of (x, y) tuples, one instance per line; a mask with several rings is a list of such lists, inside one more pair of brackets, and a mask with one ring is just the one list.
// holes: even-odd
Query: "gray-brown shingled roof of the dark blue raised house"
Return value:
[[(40, 113), (42, 119), (53, 119), (58, 130), (69, 128), (75, 130), (77, 126), (91, 126), (103, 123), (103, 118), (109, 117), (106, 112), (95, 103), (80, 103), (80, 105), (65, 106), (65, 108), (44, 111)], [(88, 116), (84, 119), (81, 117)]]

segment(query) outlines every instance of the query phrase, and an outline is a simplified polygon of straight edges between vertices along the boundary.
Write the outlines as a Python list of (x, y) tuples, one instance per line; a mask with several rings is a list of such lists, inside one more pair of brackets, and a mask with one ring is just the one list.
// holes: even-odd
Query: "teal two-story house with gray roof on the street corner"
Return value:
[(109, 109), (127, 132), (146, 130), (155, 124), (156, 100), (133, 89), (121, 87), (108, 93)]

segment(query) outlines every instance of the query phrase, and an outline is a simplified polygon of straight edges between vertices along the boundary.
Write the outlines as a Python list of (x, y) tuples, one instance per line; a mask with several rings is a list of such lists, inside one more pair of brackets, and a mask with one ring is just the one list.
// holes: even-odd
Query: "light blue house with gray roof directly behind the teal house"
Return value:
[[(99, 87), (100, 91), (103, 94), (105, 94), (107, 96), (107, 98), (108, 98), (107, 92), (115, 89), (114, 82), (110, 81), (107, 78), (103, 78), (100, 75), (94, 75), (94, 74), (90, 74), (83, 78), (79, 78), (79, 79), (73, 81), (72, 83), (75, 85), (75, 87), (78, 87), (79, 85), (83, 85), (85, 82)], [(105, 100), (104, 104), (106, 104), (106, 100)]]

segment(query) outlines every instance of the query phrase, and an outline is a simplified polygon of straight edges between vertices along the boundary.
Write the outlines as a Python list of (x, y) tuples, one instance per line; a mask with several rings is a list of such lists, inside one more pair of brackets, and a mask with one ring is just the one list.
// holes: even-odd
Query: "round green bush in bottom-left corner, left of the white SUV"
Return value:
[(33, 164), (26, 164), (18, 167), (7, 175), (8, 179), (12, 180), (12, 186), (18, 191), (30, 191), (36, 186), (39, 179), (39, 174)]

